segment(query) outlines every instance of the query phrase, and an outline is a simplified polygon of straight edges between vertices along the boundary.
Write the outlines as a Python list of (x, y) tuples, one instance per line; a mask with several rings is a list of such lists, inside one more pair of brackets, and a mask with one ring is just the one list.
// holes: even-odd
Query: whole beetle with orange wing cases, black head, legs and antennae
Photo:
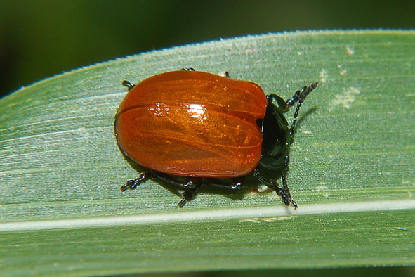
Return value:
[[(201, 186), (240, 189), (244, 177), (253, 174), (286, 206), (297, 208), (286, 182), (289, 146), (298, 110), (317, 82), (286, 101), (265, 96), (253, 82), (192, 68), (122, 84), (129, 92), (115, 115), (115, 136), (124, 155), (148, 170), (121, 191), (161, 179), (186, 189), (178, 202), (182, 207)], [(284, 112), (296, 102), (289, 127)]]

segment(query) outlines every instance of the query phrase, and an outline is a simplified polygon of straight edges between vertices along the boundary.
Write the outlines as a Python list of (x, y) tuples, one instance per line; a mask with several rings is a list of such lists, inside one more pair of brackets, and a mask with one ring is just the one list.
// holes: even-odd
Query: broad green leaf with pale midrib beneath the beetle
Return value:
[[(152, 51), (45, 79), (0, 100), (0, 275), (415, 265), (415, 32), (294, 32)], [(301, 108), (289, 186), (180, 191), (120, 153), (131, 82), (182, 67), (260, 84)], [(294, 111), (287, 113), (290, 121)], [(185, 134), (184, 134), (185, 135)], [(258, 188), (258, 189), (257, 189)]]

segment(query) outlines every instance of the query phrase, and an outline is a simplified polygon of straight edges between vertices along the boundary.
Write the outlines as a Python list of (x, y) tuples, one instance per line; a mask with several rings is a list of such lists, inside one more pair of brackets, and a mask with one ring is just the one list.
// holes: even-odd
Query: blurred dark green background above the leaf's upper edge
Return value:
[(413, 28), (415, 1), (0, 0), (0, 97), (143, 51), (308, 29)]

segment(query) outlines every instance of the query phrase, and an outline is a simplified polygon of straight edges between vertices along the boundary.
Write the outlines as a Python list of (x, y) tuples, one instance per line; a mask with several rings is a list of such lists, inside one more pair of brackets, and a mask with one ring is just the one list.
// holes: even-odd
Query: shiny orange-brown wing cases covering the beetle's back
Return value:
[(124, 153), (166, 174), (237, 177), (261, 157), (256, 120), (267, 98), (257, 84), (206, 72), (173, 71), (135, 86), (117, 112)]

